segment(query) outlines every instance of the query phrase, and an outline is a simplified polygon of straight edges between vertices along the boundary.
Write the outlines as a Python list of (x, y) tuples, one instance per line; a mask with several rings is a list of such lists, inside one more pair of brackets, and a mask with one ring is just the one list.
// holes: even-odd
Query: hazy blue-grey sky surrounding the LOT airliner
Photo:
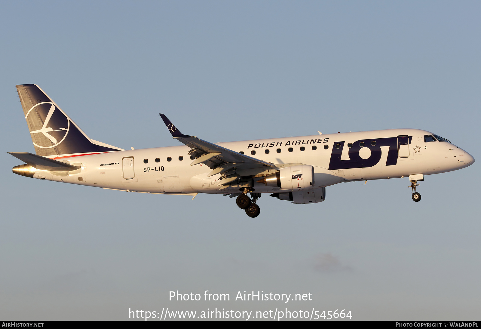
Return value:
[[(312, 292), (353, 319), (480, 319), (478, 163), (342, 183), (325, 202), (123, 193), (12, 173), (34, 152), (15, 84), (92, 139), (178, 145), (422, 128), (481, 161), (479, 1), (3, 1), (0, 317), (128, 318), (286, 305), (175, 303), (168, 291)], [(301, 307), (299, 307), (301, 306)], [(289, 306), (288, 306), (289, 307)], [(292, 305), (294, 307), (294, 305)]]

